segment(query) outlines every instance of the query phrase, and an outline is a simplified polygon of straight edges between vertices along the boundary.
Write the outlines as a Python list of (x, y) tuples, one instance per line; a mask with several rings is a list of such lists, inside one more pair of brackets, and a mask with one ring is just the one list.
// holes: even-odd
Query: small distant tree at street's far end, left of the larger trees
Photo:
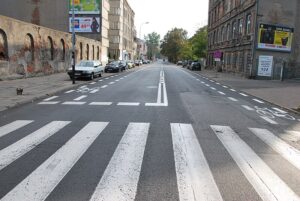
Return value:
[(160, 35), (156, 32), (152, 32), (145, 36), (145, 41), (148, 47), (147, 56), (148, 59), (153, 59), (154, 56), (157, 56), (159, 53), (159, 41)]

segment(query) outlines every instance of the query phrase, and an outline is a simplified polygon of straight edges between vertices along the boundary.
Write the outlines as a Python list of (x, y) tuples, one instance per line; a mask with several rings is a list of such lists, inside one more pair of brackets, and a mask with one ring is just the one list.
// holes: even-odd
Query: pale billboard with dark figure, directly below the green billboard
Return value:
[[(72, 18), (69, 18), (69, 31), (72, 32)], [(76, 17), (75, 32), (100, 33), (100, 17)]]

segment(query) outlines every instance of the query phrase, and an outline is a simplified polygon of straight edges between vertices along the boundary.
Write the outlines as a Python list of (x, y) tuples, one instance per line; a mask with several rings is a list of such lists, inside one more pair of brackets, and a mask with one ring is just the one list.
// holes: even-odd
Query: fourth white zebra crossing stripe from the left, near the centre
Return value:
[(149, 123), (130, 123), (97, 185), (91, 201), (134, 201)]

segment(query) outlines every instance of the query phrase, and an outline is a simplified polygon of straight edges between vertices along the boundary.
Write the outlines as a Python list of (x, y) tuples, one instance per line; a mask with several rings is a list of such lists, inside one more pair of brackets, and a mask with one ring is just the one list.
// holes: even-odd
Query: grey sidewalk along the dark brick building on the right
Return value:
[(297, 111), (300, 112), (300, 80), (285, 80), (283, 82), (278, 80), (250, 80), (239, 75), (212, 70), (203, 70), (198, 73), (280, 107), (293, 111), (298, 109)]

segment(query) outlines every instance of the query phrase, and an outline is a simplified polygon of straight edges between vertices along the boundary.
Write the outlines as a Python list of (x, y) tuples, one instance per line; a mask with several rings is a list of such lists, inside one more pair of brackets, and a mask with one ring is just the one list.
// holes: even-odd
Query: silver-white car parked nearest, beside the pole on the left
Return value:
[[(89, 78), (93, 80), (96, 76), (101, 77), (104, 71), (100, 61), (82, 60), (75, 66), (75, 78)], [(70, 78), (73, 78), (72, 68), (67, 71)]]

